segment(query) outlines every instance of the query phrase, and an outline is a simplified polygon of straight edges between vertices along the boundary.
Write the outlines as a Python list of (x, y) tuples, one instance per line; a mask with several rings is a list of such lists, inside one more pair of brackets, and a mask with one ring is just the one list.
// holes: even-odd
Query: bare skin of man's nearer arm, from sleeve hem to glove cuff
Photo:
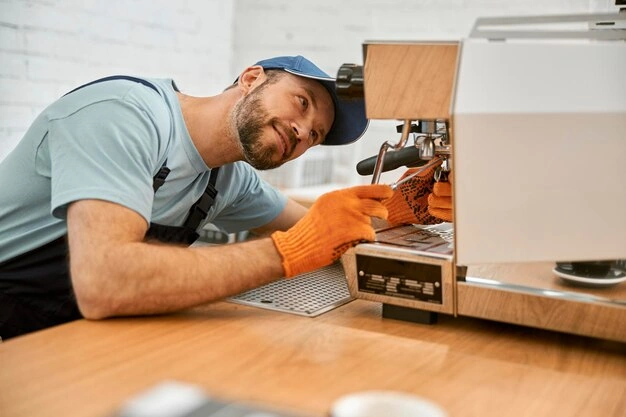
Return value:
[(100, 200), (72, 203), (67, 223), (72, 284), (90, 319), (181, 310), (283, 276), (270, 238), (191, 248), (146, 243), (139, 214)]

